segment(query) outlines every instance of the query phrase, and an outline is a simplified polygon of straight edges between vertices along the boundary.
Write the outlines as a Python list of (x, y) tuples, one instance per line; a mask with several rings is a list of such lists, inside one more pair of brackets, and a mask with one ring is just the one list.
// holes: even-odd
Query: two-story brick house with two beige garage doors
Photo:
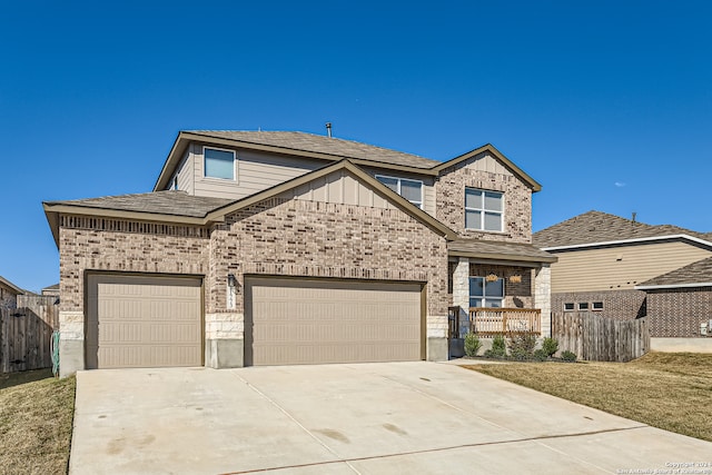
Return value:
[(61, 373), (442, 360), (453, 304), (538, 309), (546, 336), (540, 189), (490, 145), (182, 131), (152, 192), (44, 204)]

